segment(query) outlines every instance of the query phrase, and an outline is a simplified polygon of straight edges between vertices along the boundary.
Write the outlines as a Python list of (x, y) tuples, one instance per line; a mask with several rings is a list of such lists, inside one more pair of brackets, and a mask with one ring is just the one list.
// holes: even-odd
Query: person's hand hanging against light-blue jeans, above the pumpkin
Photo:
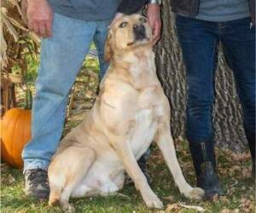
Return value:
[(28, 27), (41, 37), (52, 36), (53, 12), (47, 0), (27, 0)]

